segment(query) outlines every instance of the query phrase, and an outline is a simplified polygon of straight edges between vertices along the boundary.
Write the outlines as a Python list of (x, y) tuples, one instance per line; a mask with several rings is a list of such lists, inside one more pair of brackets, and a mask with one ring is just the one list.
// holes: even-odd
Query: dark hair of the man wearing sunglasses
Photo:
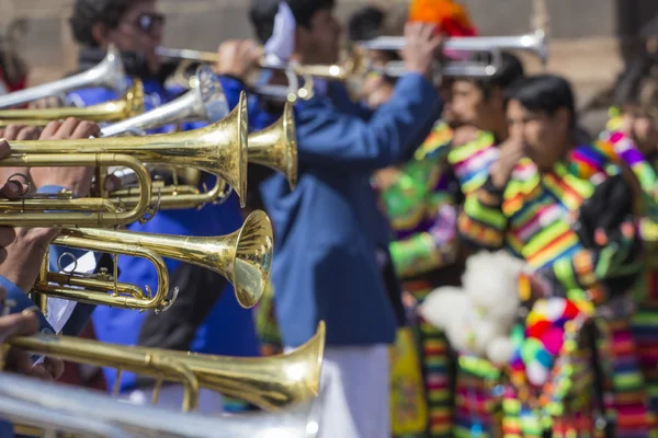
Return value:
[(133, 4), (134, 0), (76, 0), (69, 19), (73, 37), (83, 46), (97, 47), (93, 26), (102, 23), (110, 28), (116, 27)]

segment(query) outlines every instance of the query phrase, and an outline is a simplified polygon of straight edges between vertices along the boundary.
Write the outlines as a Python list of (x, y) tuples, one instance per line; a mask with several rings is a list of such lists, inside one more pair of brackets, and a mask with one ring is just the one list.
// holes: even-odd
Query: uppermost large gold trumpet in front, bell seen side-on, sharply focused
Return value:
[[(114, 227), (139, 220), (149, 209), (151, 185), (143, 163), (167, 163), (194, 168), (226, 181), (245, 206), (247, 193), (247, 97), (228, 117), (188, 132), (129, 138), (92, 140), (13, 141), (11, 155), (0, 166), (125, 166), (136, 172), (139, 181), (138, 206), (131, 211), (116, 211), (117, 206), (104, 198), (18, 199), (0, 201), (5, 214), (0, 224), (24, 227)], [(32, 212), (37, 210), (39, 212)], [(43, 212), (45, 210), (83, 210)], [(109, 211), (110, 210), (110, 211)], [(91, 212), (91, 214), (90, 214)]]

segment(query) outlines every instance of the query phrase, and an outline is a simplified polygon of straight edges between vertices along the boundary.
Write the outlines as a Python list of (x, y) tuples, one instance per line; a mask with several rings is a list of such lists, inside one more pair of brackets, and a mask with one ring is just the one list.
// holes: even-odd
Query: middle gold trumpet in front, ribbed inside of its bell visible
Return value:
[[(243, 308), (261, 298), (272, 263), (273, 233), (268, 216), (260, 210), (249, 215), (241, 229), (215, 238), (191, 238), (102, 229), (64, 229), (56, 245), (148, 258), (158, 272), (158, 288), (151, 297), (134, 285), (118, 284), (114, 274), (80, 275), (48, 272), (48, 256), (33, 288), (41, 297), (58, 297), (122, 309), (164, 311), (178, 295), (169, 298), (169, 276), (162, 257), (191, 263), (220, 274), (235, 289)], [(111, 293), (107, 293), (111, 291)], [(42, 298), (43, 299), (43, 298)], [(45, 301), (42, 309), (47, 309)]]

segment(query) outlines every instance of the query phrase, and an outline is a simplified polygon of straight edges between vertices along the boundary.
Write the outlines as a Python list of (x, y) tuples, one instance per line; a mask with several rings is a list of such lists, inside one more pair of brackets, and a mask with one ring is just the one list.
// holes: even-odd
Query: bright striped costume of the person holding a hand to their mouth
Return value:
[[(611, 293), (603, 286), (603, 279), (612, 275), (604, 261), (614, 258), (613, 254), (619, 254), (622, 250), (624, 254), (631, 253), (627, 240), (633, 239), (626, 239), (626, 234), (622, 233), (622, 241), (615, 242), (619, 246), (603, 245), (600, 250), (590, 250), (581, 242), (571, 221), (581, 212), (583, 203), (592, 197), (598, 185), (615, 173), (619, 173), (619, 168), (611, 165), (604, 154), (589, 146), (576, 148), (565, 162), (556, 163), (551, 172), (545, 173), (540, 173), (531, 160), (522, 159), (504, 189), (496, 189), (489, 178), (478, 191), (467, 196), (458, 220), (460, 232), (466, 241), (478, 247), (506, 247), (525, 260), (535, 272), (551, 279), (552, 290), (561, 297), (559, 299), (568, 299), (583, 313), (593, 316), (593, 306), (605, 304), (608, 293)], [(620, 250), (616, 251), (615, 247)], [(627, 321), (628, 314), (621, 315), (621, 320), (624, 319)], [(520, 333), (515, 332), (512, 337), (524, 356), (524, 367), (535, 359), (546, 358), (544, 349), (542, 349), (542, 343), (533, 337), (531, 321), (529, 316), (525, 327)], [(616, 330), (616, 321), (614, 318), (608, 320), (604, 326), (609, 333), (612, 331), (612, 335), (625, 336), (626, 332)], [(572, 331), (572, 323), (567, 322), (556, 327), (561, 325), (563, 332)], [(579, 388), (592, 384), (594, 368), (591, 355), (594, 346), (592, 343), (585, 343), (579, 345), (580, 348), (575, 348), (574, 342), (576, 341), (564, 342), (560, 351), (553, 351), (551, 355), (552, 360), (567, 358), (574, 361), (566, 368), (568, 372), (556, 369), (560, 360), (557, 364), (548, 361), (554, 372), (559, 371), (553, 377), (566, 381), (560, 385)], [(543, 344), (544, 347), (546, 345)], [(638, 379), (642, 382), (635, 345), (629, 341), (625, 347), (623, 351), (612, 351), (611, 357), (611, 366), (617, 371), (612, 382), (616, 393), (620, 393), (621, 385), (638, 382)], [(544, 400), (542, 403), (538, 394), (547, 388), (537, 388), (527, 382), (522, 384), (518, 377), (514, 378), (513, 371), (512, 367), (514, 381), (506, 385), (503, 393), (506, 436), (534, 437), (541, 436), (546, 429), (552, 429), (553, 436), (580, 437), (593, 434), (593, 417), (600, 411), (597, 406), (602, 404), (601, 397), (594, 396), (593, 385), (588, 391), (579, 388), (579, 396), (565, 399), (568, 394), (564, 393), (558, 394), (556, 400)], [(617, 376), (621, 378), (617, 379)], [(549, 380), (548, 384), (555, 382)], [(532, 396), (533, 393), (535, 397)], [(624, 400), (624, 406), (646, 430), (649, 418), (645, 401), (640, 387), (639, 391)]]

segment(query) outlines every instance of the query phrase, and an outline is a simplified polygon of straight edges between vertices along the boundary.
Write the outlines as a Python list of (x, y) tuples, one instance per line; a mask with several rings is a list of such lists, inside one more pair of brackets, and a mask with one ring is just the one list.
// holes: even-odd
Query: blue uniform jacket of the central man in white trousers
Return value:
[(370, 177), (412, 153), (440, 106), (419, 74), (401, 78), (374, 113), (336, 83), (296, 105), (297, 187), (291, 192), (280, 174), (261, 184), (274, 226), (272, 277), (286, 346), (308, 341), (320, 320), (329, 345), (394, 342), (397, 320), (375, 256), (387, 247), (389, 229)]

